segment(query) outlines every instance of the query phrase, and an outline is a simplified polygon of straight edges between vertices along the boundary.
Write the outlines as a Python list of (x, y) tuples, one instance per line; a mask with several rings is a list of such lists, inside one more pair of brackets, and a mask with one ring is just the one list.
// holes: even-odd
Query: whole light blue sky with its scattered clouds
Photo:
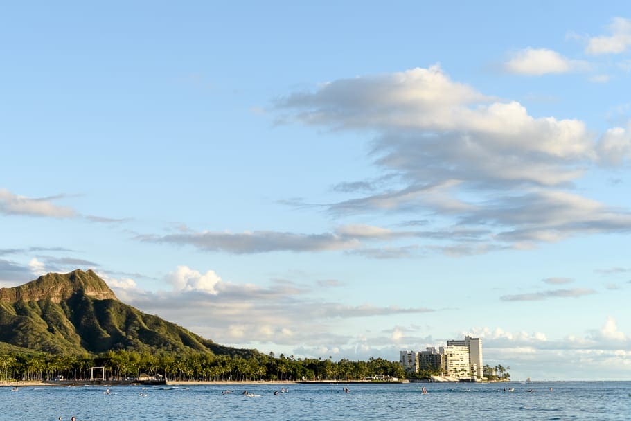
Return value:
[(631, 376), (624, 1), (15, 2), (0, 286), (224, 345)]

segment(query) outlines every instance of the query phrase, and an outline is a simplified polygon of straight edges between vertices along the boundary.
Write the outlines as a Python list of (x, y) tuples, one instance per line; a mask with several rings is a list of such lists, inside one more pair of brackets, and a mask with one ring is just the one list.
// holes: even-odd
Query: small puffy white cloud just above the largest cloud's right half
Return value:
[(570, 60), (556, 51), (546, 48), (530, 47), (517, 51), (517, 53), (504, 64), (504, 69), (509, 73), (530, 76), (540, 76), (550, 73), (568, 73), (571, 71), (585, 70), (588, 67), (587, 62)]

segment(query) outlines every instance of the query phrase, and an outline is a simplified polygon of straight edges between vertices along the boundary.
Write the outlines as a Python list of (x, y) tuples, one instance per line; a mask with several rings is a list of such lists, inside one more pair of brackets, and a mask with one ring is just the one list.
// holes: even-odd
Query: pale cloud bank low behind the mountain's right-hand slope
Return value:
[(164, 282), (170, 289), (149, 292), (132, 278), (99, 275), (121, 300), (144, 312), (163, 318), (213, 339), (218, 343), (277, 343), (315, 346), (321, 341), (341, 341), (335, 332), (339, 320), (364, 319), (396, 314), (433, 312), (427, 307), (341, 304), (313, 298), (312, 292), (341, 287), (335, 280), (299, 285), (290, 280), (272, 280), (269, 286), (235, 284), (215, 271), (201, 272), (181, 265)]

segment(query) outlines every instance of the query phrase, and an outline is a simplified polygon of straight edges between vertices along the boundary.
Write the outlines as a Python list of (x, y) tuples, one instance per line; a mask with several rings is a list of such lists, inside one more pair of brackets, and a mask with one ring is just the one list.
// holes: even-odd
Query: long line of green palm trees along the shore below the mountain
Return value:
[[(104, 367), (109, 380), (135, 379), (141, 374), (163, 375), (172, 381), (318, 381), (405, 378), (399, 361), (371, 358), (368, 361), (294, 358), (281, 354), (239, 355), (197, 353), (176, 355), (110, 350), (100, 355), (0, 354), (0, 380), (87, 380), (92, 367)], [(96, 373), (94, 373), (96, 377)], [(101, 373), (99, 370), (98, 377)]]

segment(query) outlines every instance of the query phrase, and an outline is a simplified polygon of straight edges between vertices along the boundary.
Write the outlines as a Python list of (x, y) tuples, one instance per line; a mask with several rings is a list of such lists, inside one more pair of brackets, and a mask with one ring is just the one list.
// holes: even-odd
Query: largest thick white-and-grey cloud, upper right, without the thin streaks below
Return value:
[[(442, 100), (427, 99), (441, 92)], [(377, 164), (423, 181), (409, 197), (423, 195), (421, 186), (454, 181), (558, 185), (580, 177), (576, 163), (596, 157), (583, 122), (534, 118), (519, 102), (493, 102), (438, 66), (337, 80), (278, 107), (308, 124), (380, 132)]]

